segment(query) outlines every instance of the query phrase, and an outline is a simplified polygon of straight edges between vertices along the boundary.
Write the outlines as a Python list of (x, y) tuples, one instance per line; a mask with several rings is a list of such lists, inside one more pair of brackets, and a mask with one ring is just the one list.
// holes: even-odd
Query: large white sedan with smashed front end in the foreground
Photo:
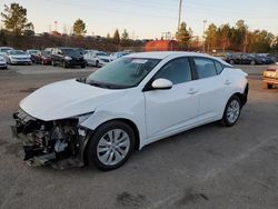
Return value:
[(111, 170), (153, 141), (214, 121), (234, 126), (247, 94), (247, 73), (222, 60), (135, 53), (34, 91), (20, 102), (12, 131), (31, 165), (63, 159)]

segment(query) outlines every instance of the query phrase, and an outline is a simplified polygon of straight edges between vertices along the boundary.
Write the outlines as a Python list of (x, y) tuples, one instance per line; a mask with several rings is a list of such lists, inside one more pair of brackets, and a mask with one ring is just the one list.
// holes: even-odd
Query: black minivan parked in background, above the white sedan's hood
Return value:
[(69, 68), (80, 66), (86, 68), (86, 60), (83, 53), (78, 48), (54, 48), (51, 56), (52, 66), (62, 66)]

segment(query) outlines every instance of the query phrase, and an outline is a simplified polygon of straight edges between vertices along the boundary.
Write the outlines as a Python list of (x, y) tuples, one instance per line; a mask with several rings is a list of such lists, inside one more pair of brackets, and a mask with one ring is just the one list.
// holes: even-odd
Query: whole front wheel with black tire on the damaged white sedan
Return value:
[[(120, 143), (122, 146), (118, 147)], [(126, 149), (122, 149), (123, 147)], [(113, 170), (128, 160), (133, 148), (135, 132), (125, 122), (110, 121), (101, 125), (91, 137), (87, 146), (87, 159), (90, 165), (95, 165), (100, 170)]]

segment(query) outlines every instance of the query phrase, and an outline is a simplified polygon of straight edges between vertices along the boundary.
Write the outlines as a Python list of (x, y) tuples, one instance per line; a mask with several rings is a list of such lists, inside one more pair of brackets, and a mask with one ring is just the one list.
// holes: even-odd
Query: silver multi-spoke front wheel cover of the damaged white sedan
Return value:
[(106, 132), (98, 142), (97, 156), (101, 163), (113, 166), (121, 162), (128, 155), (130, 138), (122, 129)]

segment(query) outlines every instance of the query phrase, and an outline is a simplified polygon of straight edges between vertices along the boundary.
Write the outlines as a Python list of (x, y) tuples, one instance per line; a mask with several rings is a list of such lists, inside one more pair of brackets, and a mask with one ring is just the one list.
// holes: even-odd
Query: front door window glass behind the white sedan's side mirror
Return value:
[(155, 76), (155, 79), (159, 78), (168, 79), (173, 84), (190, 81), (191, 70), (188, 58), (178, 58), (169, 61)]

